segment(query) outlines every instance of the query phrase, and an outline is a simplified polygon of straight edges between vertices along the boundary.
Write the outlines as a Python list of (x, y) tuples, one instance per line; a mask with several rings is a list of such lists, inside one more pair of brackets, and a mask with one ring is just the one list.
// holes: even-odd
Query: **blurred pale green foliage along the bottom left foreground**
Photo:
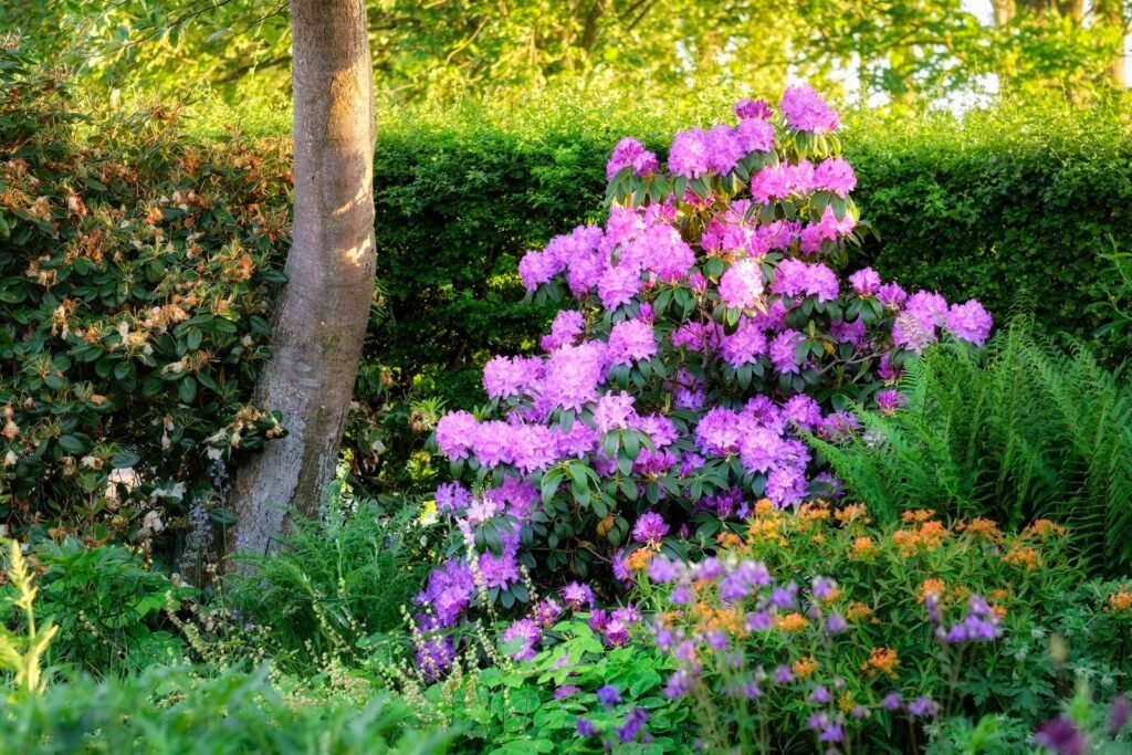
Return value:
[(447, 752), (453, 730), (414, 731), (406, 705), (289, 698), (261, 668), (215, 678), (155, 667), (143, 675), (58, 684), (0, 715), (0, 741), (20, 755), (423, 755)]

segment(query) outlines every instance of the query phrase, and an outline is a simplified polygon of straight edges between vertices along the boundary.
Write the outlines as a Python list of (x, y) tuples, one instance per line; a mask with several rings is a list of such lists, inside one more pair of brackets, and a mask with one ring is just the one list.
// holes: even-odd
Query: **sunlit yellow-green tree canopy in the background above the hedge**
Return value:
[[(281, 0), (11, 0), (0, 31), (40, 57), (83, 51), (110, 87), (232, 96), (289, 85)], [(788, 76), (860, 102), (1123, 88), (1124, 0), (369, 0), (378, 87), (396, 101), (532, 86), (634, 93), (705, 84), (773, 93)]]

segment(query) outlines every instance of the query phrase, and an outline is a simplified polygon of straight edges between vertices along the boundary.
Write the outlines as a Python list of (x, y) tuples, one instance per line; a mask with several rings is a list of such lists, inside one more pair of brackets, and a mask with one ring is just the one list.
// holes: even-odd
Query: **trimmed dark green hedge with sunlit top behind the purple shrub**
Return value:
[[(518, 257), (600, 213), (604, 162), (625, 134), (663, 151), (672, 115), (602, 120), (560, 109), (429, 117), (387, 128), (377, 149), (379, 280), (387, 304), (369, 357), (449, 406), (482, 400), (479, 366), (534, 349), (551, 312), (521, 304)], [(718, 111), (715, 111), (718, 112)], [(437, 121), (439, 120), (439, 125)], [(957, 123), (851, 115), (846, 152), (861, 214), (881, 234), (858, 259), (909, 288), (1019, 303), (1089, 337), (1088, 303), (1110, 271), (1108, 237), (1132, 248), (1126, 104), (1091, 112), (997, 110)]]

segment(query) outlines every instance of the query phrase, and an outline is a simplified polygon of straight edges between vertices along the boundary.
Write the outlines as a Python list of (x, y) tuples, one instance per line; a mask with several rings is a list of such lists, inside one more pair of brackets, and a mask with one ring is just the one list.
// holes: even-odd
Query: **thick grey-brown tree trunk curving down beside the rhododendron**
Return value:
[(242, 466), (229, 549), (265, 552), (333, 480), (374, 295), (374, 74), (365, 0), (291, 0), (294, 220), (256, 387), (288, 436)]

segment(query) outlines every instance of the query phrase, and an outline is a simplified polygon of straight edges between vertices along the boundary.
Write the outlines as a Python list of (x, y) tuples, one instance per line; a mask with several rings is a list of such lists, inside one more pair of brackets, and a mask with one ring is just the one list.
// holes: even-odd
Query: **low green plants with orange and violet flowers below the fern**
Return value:
[[(946, 526), (910, 512), (873, 525), (859, 505), (767, 505), (721, 540), (719, 576), (643, 580), (709, 749), (821, 752), (818, 732), (835, 723), (847, 752), (917, 752), (936, 717), (997, 713), (1032, 729), (1074, 679), (1095, 679), (1106, 700), (1126, 686), (1126, 587), (1082, 584), (1065, 530), (1048, 521), (1007, 534), (985, 518)], [(772, 582), (739, 597), (727, 575), (743, 564)], [(797, 594), (783, 604), (771, 593), (789, 582)], [(736, 694), (747, 685), (760, 694)]]

